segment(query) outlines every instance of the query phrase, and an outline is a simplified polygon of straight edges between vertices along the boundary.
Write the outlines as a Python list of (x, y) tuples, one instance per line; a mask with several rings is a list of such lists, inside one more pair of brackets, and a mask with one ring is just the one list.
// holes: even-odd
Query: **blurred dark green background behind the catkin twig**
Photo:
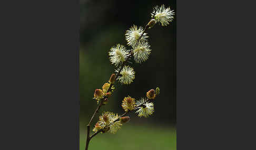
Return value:
[[(108, 52), (116, 44), (126, 45), (125, 30), (132, 25), (144, 27), (155, 5), (170, 6), (175, 1), (86, 1), (80, 0), (80, 149), (85, 147), (86, 125), (97, 103), (93, 100), (96, 88), (102, 88), (115, 67)], [(109, 104), (96, 114), (93, 127), (103, 111), (123, 114), (121, 103), (130, 95), (145, 97), (150, 89), (160, 88), (154, 102), (155, 112), (148, 118), (129, 114), (131, 121), (123, 124), (116, 134), (98, 134), (89, 149), (176, 149), (176, 15), (169, 26), (155, 25), (147, 30), (152, 54), (142, 63), (130, 65), (135, 70), (130, 85), (115, 84)], [(92, 134), (91, 130), (91, 134)]]

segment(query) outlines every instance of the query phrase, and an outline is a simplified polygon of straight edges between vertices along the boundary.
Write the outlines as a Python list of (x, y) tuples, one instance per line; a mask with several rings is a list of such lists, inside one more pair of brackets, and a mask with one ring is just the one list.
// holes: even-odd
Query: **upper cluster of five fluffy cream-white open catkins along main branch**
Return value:
[(125, 65), (125, 62), (131, 58), (131, 55), (136, 63), (142, 63), (145, 62), (151, 54), (152, 50), (147, 41), (149, 36), (145, 33), (145, 30), (147, 28), (152, 28), (156, 23), (159, 23), (162, 26), (169, 25), (174, 18), (173, 15), (174, 10), (171, 10), (170, 7), (165, 8), (164, 5), (154, 7), (151, 14), (152, 19), (144, 29), (141, 26), (133, 25), (129, 30), (126, 30), (125, 39), (127, 41), (127, 46), (130, 46), (130, 48), (126, 48), (121, 44), (111, 47), (109, 51), (110, 61), (117, 67), (116, 72), (120, 72), (120, 76), (117, 77), (117, 80), (119, 80), (120, 83), (130, 84), (135, 78), (134, 69)]

